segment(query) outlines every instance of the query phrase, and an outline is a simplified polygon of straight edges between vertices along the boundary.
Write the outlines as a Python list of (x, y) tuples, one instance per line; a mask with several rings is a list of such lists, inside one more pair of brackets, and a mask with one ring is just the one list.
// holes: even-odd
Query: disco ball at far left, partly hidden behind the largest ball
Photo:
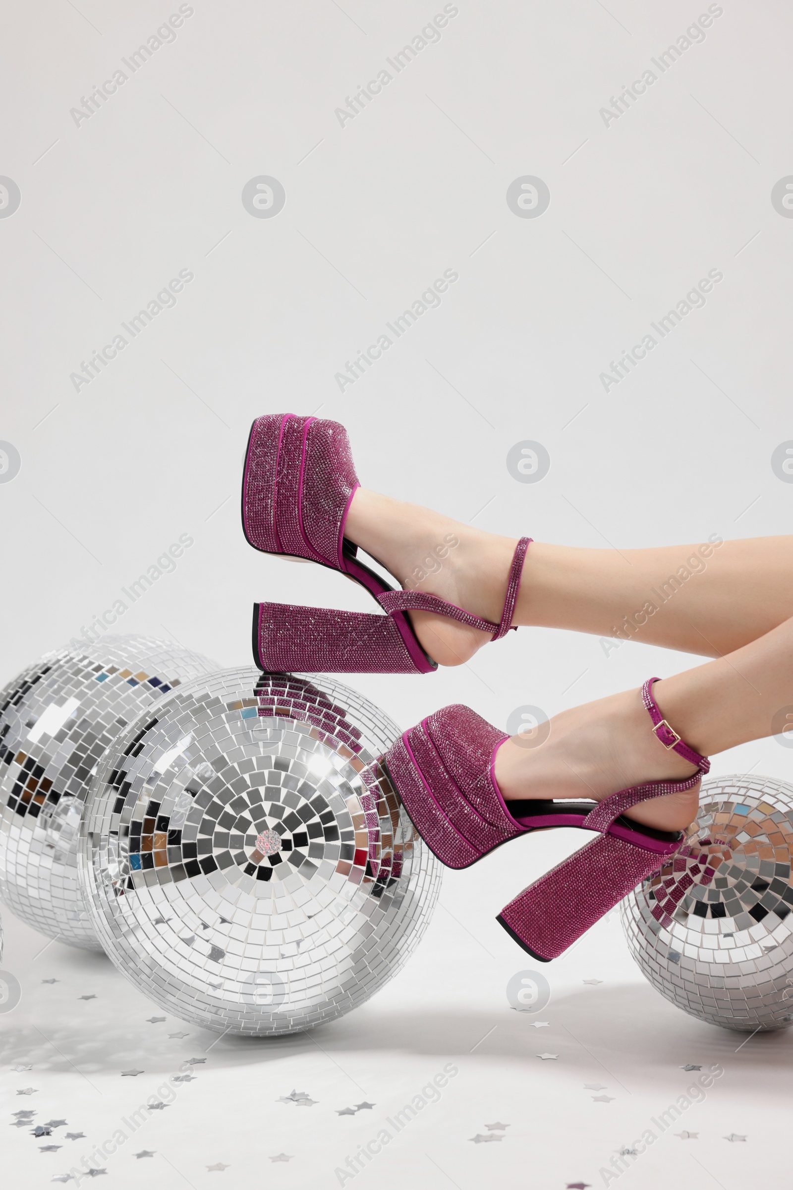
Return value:
[(213, 668), (177, 645), (105, 637), (48, 653), (0, 693), (0, 897), (18, 917), (101, 950), (77, 883), (88, 778), (143, 710)]

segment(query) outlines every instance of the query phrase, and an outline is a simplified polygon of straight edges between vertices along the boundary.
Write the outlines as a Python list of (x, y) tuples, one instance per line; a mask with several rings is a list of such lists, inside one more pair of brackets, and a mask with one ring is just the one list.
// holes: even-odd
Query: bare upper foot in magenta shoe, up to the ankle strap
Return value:
[[(405, 590), (438, 595), (498, 624), (517, 540), (462, 525), (418, 505), (358, 488), (345, 537)], [(439, 665), (462, 665), (491, 633), (433, 612), (410, 612), (422, 649)]]

